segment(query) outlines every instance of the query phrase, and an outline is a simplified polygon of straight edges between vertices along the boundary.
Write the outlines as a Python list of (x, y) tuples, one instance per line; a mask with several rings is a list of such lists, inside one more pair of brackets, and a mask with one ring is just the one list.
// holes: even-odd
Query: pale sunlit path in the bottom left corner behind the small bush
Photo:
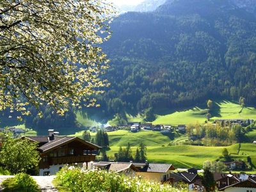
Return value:
[[(9, 175), (0, 175), (0, 191), (2, 191), (3, 187), (1, 187), (1, 182), (3, 182), (4, 179), (10, 178), (13, 176)], [(33, 179), (36, 180), (37, 184), (40, 186), (41, 191), (43, 192), (57, 192), (58, 190), (54, 188), (52, 184), (52, 180), (54, 179), (54, 176), (32, 176)]]

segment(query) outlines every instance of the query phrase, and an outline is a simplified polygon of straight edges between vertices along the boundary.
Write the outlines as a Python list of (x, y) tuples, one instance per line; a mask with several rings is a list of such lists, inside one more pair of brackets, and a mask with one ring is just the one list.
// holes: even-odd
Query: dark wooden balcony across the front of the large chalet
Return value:
[(95, 155), (52, 157), (51, 164), (84, 163), (95, 160)]

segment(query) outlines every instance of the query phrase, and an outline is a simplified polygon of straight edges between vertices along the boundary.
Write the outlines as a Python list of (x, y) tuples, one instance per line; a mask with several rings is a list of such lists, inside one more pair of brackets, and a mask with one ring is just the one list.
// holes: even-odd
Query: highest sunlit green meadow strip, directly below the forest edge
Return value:
[[(172, 112), (167, 112), (172, 111)], [(173, 110), (173, 109), (163, 109), (163, 111), (157, 111), (156, 120), (152, 123), (157, 124), (193, 124), (193, 123), (203, 123), (206, 120), (206, 104), (205, 107), (195, 106), (190, 109), (182, 109), (182, 110)], [(161, 115), (159, 115), (161, 114)], [(211, 120), (220, 119), (220, 118), (256, 118), (256, 109), (253, 107), (242, 108), (237, 102), (221, 100), (217, 101), (214, 104), (214, 108), (211, 109)], [(143, 115), (132, 116), (127, 114), (127, 120), (129, 122), (142, 122)], [(116, 125), (117, 121), (114, 118), (109, 121), (109, 124)]]

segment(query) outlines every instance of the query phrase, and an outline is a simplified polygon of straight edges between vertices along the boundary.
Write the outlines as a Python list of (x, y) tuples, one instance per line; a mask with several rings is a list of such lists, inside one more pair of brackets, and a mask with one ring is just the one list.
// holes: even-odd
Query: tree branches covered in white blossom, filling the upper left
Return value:
[(108, 84), (100, 44), (112, 15), (102, 0), (0, 1), (0, 110), (95, 104), (90, 95)]

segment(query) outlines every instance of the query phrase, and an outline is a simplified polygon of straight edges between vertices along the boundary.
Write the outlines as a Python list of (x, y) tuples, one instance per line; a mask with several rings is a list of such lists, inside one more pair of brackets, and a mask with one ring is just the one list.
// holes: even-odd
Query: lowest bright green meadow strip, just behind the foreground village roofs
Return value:
[[(172, 163), (179, 168), (199, 167), (202, 168), (204, 161), (214, 161), (221, 156), (224, 147), (203, 147), (192, 145), (177, 145), (170, 147), (147, 147), (148, 161), (155, 163)], [(242, 143), (239, 153), (239, 144), (225, 147), (232, 154), (234, 159), (247, 161), (247, 156), (252, 158), (252, 163), (256, 165), (256, 145)], [(113, 157), (118, 152), (119, 147), (111, 147), (108, 155)], [(132, 147), (135, 153), (136, 147)]]

